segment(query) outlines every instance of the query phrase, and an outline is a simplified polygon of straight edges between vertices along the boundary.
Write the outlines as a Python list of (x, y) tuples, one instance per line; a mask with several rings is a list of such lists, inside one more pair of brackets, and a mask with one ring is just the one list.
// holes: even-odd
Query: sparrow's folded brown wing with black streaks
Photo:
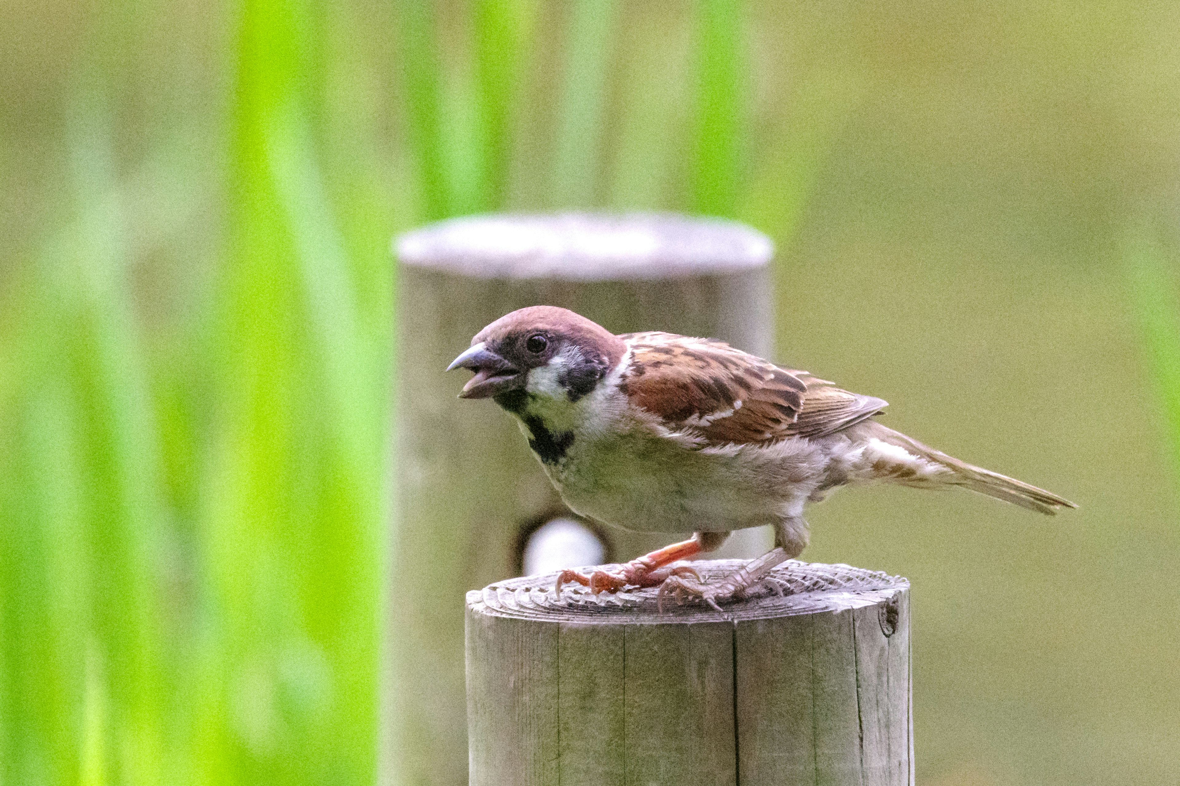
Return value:
[(826, 436), (885, 407), (725, 342), (660, 332), (621, 338), (631, 348), (624, 392), (670, 430), (707, 445)]

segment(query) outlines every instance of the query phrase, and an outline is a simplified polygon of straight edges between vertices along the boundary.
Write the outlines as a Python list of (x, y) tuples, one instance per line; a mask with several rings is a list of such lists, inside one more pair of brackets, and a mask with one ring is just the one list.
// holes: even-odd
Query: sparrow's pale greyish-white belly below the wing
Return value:
[(650, 432), (571, 445), (545, 471), (575, 511), (627, 529), (728, 531), (773, 524), (785, 489), (748, 457), (686, 449)]

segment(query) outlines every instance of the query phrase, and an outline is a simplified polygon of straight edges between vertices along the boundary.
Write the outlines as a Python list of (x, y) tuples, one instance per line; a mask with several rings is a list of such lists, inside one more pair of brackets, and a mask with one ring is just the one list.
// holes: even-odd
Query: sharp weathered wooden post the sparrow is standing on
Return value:
[(904, 579), (792, 560), (719, 614), (555, 575), (467, 594), (472, 786), (913, 782)]

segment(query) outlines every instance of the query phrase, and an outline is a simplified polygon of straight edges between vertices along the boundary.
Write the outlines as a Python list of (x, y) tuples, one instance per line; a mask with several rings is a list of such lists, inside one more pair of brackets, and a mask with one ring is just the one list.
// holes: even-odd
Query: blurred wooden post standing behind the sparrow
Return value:
[[(572, 309), (615, 332), (668, 330), (771, 355), (769, 240), (740, 224), (673, 214), (489, 216), (398, 240), (398, 529), (391, 755), (405, 782), (466, 782), (463, 593), (513, 575), (520, 528), (565, 511), (514, 422), (459, 401), (446, 365), (493, 319)], [(667, 536), (611, 531), (612, 559)], [(747, 530), (725, 555), (769, 544)], [(452, 600), (454, 602), (452, 602)]]

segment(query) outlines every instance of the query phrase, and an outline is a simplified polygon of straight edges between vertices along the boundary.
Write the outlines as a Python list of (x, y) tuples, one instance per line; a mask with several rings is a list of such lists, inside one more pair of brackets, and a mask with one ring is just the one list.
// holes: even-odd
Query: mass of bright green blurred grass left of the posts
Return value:
[(2, 780), (372, 782), (388, 189), (329, 121), (328, 8), (243, 4), (211, 61), (186, 11), (79, 14), (65, 198), (13, 253)]

